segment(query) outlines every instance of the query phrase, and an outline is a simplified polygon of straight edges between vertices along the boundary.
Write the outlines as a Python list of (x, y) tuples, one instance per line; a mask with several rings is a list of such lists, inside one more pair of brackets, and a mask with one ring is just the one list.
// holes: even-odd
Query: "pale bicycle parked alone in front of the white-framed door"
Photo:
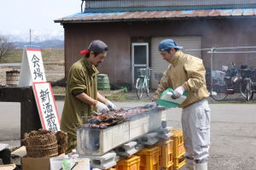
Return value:
[(137, 98), (141, 99), (143, 97), (143, 93), (146, 93), (147, 96), (149, 94), (149, 77), (150, 77), (150, 71), (153, 69), (150, 69), (149, 67), (147, 68), (140, 68), (137, 69), (140, 71), (140, 76), (137, 78), (136, 81), (136, 94)]

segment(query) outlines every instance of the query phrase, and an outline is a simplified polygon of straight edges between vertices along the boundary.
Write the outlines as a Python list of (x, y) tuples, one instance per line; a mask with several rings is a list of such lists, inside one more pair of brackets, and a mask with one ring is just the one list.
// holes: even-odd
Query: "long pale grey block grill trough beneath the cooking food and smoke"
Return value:
[(79, 155), (102, 156), (119, 145), (160, 128), (164, 111), (161, 108), (144, 111), (106, 128), (80, 127), (77, 129)]

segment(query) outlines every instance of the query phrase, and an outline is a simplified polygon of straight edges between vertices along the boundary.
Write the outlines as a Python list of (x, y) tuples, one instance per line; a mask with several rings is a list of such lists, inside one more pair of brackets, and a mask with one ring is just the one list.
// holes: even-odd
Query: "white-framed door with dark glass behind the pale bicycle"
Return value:
[(140, 75), (137, 69), (148, 66), (148, 43), (131, 43), (131, 77), (132, 86)]

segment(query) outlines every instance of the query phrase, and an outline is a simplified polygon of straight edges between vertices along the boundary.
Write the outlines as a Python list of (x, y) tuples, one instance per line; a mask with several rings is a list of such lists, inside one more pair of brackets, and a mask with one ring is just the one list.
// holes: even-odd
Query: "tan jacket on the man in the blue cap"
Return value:
[(164, 72), (160, 85), (154, 94), (154, 101), (159, 99), (160, 94), (167, 88), (175, 89), (179, 86), (183, 86), (189, 95), (178, 107), (185, 108), (209, 96), (205, 78), (206, 70), (202, 59), (183, 54), (182, 51), (178, 50), (169, 62), (170, 65)]

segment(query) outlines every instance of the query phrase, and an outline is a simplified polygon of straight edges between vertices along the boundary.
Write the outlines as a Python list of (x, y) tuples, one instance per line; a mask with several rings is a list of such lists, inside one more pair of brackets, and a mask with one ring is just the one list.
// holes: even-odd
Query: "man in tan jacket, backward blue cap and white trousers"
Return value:
[(174, 89), (172, 99), (179, 98), (183, 92), (188, 97), (181, 105), (184, 146), (187, 150), (187, 169), (207, 170), (207, 157), (210, 148), (210, 108), (206, 85), (206, 70), (202, 59), (183, 54), (182, 47), (172, 39), (160, 42), (159, 51), (168, 61), (166, 71), (160, 80), (153, 101), (160, 98), (167, 88)]

